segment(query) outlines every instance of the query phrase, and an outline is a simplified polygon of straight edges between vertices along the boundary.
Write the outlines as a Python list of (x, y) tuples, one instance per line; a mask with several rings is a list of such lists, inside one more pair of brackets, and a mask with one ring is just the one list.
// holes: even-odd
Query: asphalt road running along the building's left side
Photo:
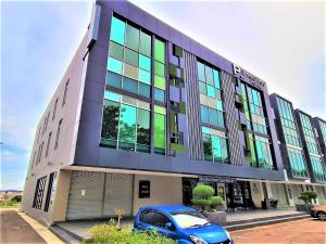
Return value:
[(35, 230), (18, 216), (16, 209), (0, 209), (0, 243), (46, 243)]

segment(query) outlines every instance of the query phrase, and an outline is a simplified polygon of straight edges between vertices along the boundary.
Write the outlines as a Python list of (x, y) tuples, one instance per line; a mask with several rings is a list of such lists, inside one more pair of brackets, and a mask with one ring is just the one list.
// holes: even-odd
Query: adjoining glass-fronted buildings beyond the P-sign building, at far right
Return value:
[(293, 204), (300, 204), (300, 192), (314, 190), (317, 202), (326, 202), (325, 163), (322, 158), (311, 116), (293, 108), (290, 101), (278, 94), (271, 94), (271, 104), (275, 112), (279, 149), (283, 155), (286, 187), (293, 196)]

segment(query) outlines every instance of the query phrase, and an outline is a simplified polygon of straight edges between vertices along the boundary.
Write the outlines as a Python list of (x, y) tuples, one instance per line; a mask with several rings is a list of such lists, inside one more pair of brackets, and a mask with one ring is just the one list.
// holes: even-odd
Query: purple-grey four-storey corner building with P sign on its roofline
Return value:
[(23, 210), (133, 216), (190, 204), (197, 182), (229, 209), (288, 206), (274, 119), (265, 81), (129, 2), (97, 1), (38, 125)]

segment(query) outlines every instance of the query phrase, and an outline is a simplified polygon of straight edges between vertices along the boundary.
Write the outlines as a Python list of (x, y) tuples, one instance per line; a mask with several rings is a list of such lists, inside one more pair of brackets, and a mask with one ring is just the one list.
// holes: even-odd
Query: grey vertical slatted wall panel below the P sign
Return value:
[(221, 72), (221, 81), (224, 91), (224, 110), (227, 127), (228, 152), (230, 164), (242, 165), (244, 162), (243, 149), (239, 142), (238, 115), (235, 107), (235, 85), (231, 81), (231, 75)]

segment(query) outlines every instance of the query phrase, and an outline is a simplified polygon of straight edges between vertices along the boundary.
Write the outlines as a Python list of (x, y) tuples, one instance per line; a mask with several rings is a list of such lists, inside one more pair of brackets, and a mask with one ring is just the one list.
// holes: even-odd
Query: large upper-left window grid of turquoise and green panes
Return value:
[(106, 85), (150, 98), (151, 36), (112, 17)]

